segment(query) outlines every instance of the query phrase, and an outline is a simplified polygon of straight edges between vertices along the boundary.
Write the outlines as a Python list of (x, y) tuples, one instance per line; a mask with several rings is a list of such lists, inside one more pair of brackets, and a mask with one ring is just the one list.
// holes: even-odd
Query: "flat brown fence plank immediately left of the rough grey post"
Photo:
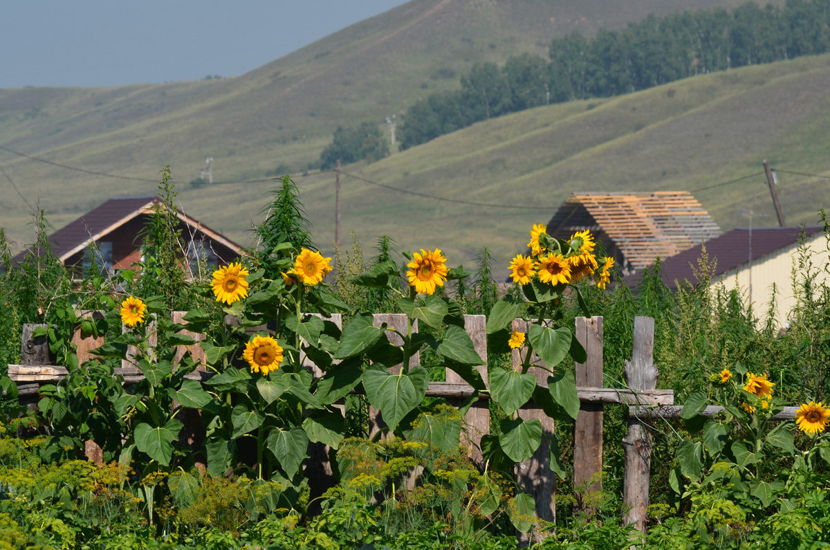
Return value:
[[(576, 364), (577, 387), (603, 387), (603, 317), (577, 317), (576, 338), (585, 348), (587, 358)], [(603, 404), (580, 403), (574, 426), (574, 491), (578, 507), (595, 513), (589, 494), (603, 490)], [(580, 494), (580, 489), (584, 493)]]

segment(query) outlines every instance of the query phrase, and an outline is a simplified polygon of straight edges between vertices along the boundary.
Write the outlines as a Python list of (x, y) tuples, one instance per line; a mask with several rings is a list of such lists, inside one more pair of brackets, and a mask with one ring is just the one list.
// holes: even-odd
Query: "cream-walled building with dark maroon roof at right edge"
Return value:
[[(828, 238), (822, 226), (803, 228), (803, 243), (802, 228), (735, 228), (662, 260), (661, 277), (667, 287), (676, 288), (684, 281), (699, 284), (695, 270), (704, 246), (706, 257), (714, 264), (711, 287), (723, 285), (727, 291), (737, 290), (759, 317), (768, 311), (775, 288), (775, 321), (779, 327), (786, 325), (797, 302), (793, 270), (797, 277), (803, 274), (805, 268), (799, 265), (802, 256), (813, 263), (816, 284), (828, 280), (824, 269), (828, 264)], [(629, 283), (636, 285), (634, 280)]]

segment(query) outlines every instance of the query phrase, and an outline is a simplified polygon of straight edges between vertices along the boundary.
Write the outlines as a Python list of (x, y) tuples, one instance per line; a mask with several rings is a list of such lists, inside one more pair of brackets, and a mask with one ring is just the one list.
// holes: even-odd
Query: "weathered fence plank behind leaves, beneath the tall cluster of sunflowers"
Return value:
[[(528, 325), (524, 319), (514, 319), (511, 327), (513, 331), (527, 332)], [(513, 368), (520, 366), (520, 350), (513, 350)], [(530, 357), (531, 365), (541, 365), (542, 360), (535, 353)], [(531, 366), (529, 374), (536, 377), (540, 385), (547, 385), (548, 371)], [(554, 473), (550, 469), (550, 436), (554, 435), (554, 419), (537, 408), (533, 401), (519, 410), (522, 420), (539, 420), (542, 424), (542, 442), (530, 459), (516, 464), (516, 483), (527, 494), (533, 496), (536, 502), (536, 516), (544, 521), (556, 521), (556, 484)], [(520, 534), (520, 543), (529, 543), (524, 534)]]

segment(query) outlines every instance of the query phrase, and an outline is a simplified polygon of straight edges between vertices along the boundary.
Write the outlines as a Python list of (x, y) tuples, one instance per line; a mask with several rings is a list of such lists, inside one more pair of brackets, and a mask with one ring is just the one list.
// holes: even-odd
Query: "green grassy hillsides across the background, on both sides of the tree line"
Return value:
[[(525, 51), (544, 56), (552, 37), (574, 28), (589, 34), (649, 12), (740, 3), (415, 0), (236, 78), (0, 91), (0, 145), (58, 165), (134, 178), (73, 171), (0, 150), (0, 226), (25, 241), (27, 202), (39, 199), (61, 227), (110, 196), (154, 193), (160, 167), (171, 165), (188, 213), (248, 243), (247, 228), (259, 219), (271, 184), (191, 188), (188, 181), (212, 156), (220, 181), (261, 179), (276, 165), (291, 167), (315, 236), (330, 250), (334, 175), (300, 174), (337, 125), (401, 113), (428, 93), (457, 86), (458, 75), (476, 61)], [(827, 62), (749, 67), (612, 100), (525, 111), (374, 165), (345, 167), (348, 174), (415, 193), (501, 207), (426, 199), (344, 175), (344, 237), (354, 229), (365, 243), (388, 233), (404, 247), (445, 248), (453, 262), (469, 262), (487, 244), (503, 261), (526, 242), (530, 223), (547, 220), (574, 189), (696, 189), (758, 171), (764, 156), (779, 168), (823, 170)], [(729, 228), (742, 223), (735, 208), (769, 211), (769, 193), (759, 182), (698, 197)], [(783, 180), (784, 213), (813, 214), (820, 204), (816, 189), (807, 180)], [(774, 223), (774, 216), (754, 223)]]

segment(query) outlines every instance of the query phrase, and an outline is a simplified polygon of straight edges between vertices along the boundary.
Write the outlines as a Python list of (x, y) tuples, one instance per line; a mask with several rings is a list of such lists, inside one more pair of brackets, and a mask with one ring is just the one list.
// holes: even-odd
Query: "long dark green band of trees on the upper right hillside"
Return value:
[(648, 16), (623, 31), (554, 39), (549, 60), (530, 53), (504, 66), (477, 63), (461, 89), (417, 101), (399, 129), (402, 149), (510, 112), (616, 96), (712, 71), (828, 52), (830, 0), (747, 3)]

